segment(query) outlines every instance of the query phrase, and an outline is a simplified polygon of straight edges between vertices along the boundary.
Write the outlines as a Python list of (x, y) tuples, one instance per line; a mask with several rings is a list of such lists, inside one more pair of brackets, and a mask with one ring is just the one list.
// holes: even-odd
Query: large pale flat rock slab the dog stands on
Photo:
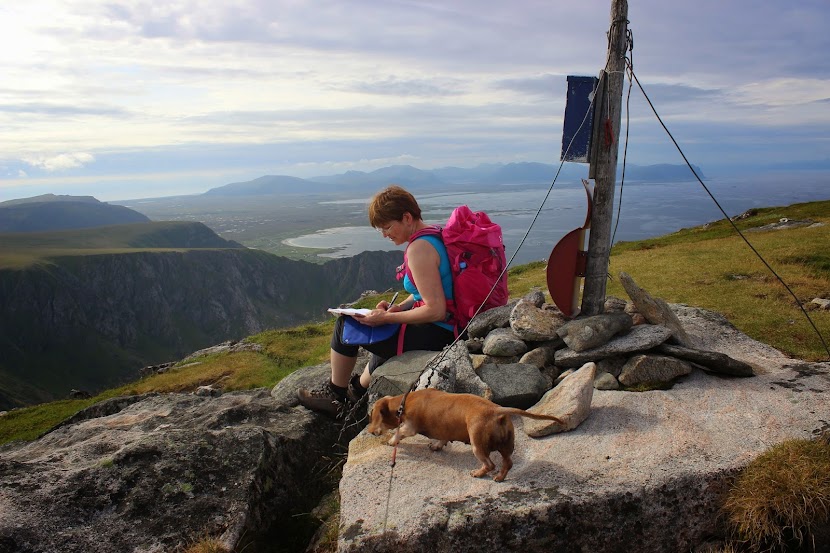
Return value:
[(413, 437), (391, 469), (387, 438), (361, 433), (340, 482), (338, 550), (657, 553), (723, 536), (730, 477), (771, 445), (826, 427), (830, 363), (793, 362), (717, 314), (672, 309), (698, 343), (757, 376), (693, 371), (669, 390), (595, 390), (578, 428), (541, 439), (513, 417), (514, 466), (502, 483), (469, 476), (478, 466), (469, 445), (432, 452)]

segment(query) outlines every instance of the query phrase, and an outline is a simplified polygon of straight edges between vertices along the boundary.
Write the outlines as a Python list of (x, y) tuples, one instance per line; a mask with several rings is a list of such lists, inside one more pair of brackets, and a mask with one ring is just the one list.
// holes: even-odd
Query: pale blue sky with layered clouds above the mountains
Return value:
[[(610, 0), (4, 0), (0, 201), (558, 163)], [(634, 71), (707, 174), (830, 160), (827, 0), (630, 0)], [(629, 161), (680, 163), (638, 90)], [(828, 165), (830, 166), (830, 165)]]

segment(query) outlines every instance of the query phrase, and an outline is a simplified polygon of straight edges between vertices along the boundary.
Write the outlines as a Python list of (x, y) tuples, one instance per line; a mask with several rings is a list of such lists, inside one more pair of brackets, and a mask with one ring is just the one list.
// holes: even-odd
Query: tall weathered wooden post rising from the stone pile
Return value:
[(607, 79), (597, 121), (600, 125), (595, 165), (591, 167), (594, 188), (594, 212), (588, 238), (588, 260), (585, 267), (585, 288), (582, 293), (584, 316), (598, 315), (605, 306), (605, 285), (608, 257), (611, 254), (611, 219), (614, 213), (614, 185), (617, 178), (620, 115), (625, 71), (626, 35), (628, 34), (628, 0), (611, 1), (611, 27), (608, 37)]

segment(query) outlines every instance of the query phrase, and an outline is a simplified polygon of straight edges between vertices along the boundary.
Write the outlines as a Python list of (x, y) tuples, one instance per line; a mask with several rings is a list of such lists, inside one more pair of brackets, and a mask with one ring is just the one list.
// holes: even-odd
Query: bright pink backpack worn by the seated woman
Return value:
[[(453, 287), (453, 299), (447, 301), (447, 310), (453, 319), (449, 322), (455, 323), (458, 332), (467, 327), (476, 312), (507, 304), (507, 271), (504, 270), (507, 258), (501, 227), (493, 223), (486, 213), (473, 212), (466, 205), (459, 206), (453, 210), (443, 228), (436, 226), (419, 230), (410, 237), (410, 242), (428, 234), (441, 237), (447, 248)], [(406, 252), (398, 278), (403, 278), (404, 274), (412, 279)]]

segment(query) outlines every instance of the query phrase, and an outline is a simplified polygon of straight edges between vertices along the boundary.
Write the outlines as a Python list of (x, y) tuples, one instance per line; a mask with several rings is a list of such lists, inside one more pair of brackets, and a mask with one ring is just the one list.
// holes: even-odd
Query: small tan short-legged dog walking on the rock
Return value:
[(450, 394), (427, 388), (410, 392), (404, 403), (404, 412), (398, 425), (398, 408), (403, 395), (383, 397), (375, 402), (372, 418), (366, 427), (380, 436), (386, 430), (397, 428), (389, 445), (415, 434), (433, 439), (429, 447), (439, 451), (447, 442), (464, 442), (473, 446), (473, 454), (483, 464), (470, 472), (476, 478), (495, 470), (490, 453), (498, 451), (502, 457), (501, 470), (493, 478), (501, 482), (513, 466), (513, 422), (510, 415), (562, 422), (552, 415), (537, 415), (513, 407), (501, 407), (492, 401), (472, 394)]

